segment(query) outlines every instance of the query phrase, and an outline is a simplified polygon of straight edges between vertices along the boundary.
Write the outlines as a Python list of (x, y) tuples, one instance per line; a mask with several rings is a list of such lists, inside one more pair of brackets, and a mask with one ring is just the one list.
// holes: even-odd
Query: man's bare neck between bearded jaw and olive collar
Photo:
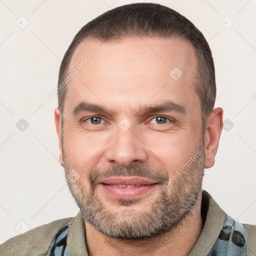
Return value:
[(201, 197), (191, 212), (171, 231), (144, 240), (108, 237), (85, 222), (88, 255), (187, 256), (202, 230)]

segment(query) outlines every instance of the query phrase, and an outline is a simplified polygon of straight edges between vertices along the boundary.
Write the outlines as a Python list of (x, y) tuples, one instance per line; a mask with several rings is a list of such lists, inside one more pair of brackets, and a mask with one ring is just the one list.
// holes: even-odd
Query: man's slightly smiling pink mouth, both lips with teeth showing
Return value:
[(141, 177), (116, 176), (101, 179), (98, 185), (115, 199), (134, 199), (146, 196), (158, 183)]

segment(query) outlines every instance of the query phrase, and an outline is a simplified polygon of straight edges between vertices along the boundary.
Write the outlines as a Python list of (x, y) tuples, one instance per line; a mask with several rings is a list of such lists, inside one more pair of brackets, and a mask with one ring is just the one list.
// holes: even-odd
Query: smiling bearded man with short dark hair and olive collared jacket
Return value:
[(256, 227), (202, 191), (223, 110), (208, 43), (185, 17), (136, 3), (83, 26), (59, 70), (55, 123), (80, 208), (0, 255), (255, 255)]

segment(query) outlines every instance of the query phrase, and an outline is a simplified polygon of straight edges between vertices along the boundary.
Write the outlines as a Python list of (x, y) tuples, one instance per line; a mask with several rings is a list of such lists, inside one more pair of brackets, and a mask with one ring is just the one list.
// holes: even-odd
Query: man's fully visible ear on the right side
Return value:
[(210, 168), (215, 161), (218, 149), (219, 137), (223, 127), (223, 109), (216, 107), (208, 115), (204, 133), (205, 141), (205, 160), (204, 168)]

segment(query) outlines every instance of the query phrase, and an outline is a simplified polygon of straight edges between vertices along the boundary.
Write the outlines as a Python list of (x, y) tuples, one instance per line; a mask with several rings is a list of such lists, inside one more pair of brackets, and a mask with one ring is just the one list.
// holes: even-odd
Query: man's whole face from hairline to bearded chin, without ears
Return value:
[(67, 70), (78, 73), (64, 102), (63, 165), (79, 177), (67, 182), (96, 230), (128, 239), (157, 235), (200, 197), (204, 149), (194, 54), (175, 38), (86, 39), (76, 48)]

